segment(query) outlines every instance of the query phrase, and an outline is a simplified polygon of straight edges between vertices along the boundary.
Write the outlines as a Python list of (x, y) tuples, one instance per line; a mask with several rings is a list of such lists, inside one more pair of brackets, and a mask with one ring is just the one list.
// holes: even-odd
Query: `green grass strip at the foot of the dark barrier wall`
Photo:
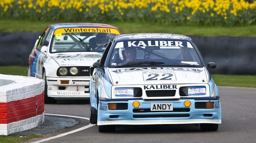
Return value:
[[(0, 74), (27, 76), (27, 67), (0, 66)], [(256, 75), (212, 74), (212, 77), (218, 86), (256, 88)]]

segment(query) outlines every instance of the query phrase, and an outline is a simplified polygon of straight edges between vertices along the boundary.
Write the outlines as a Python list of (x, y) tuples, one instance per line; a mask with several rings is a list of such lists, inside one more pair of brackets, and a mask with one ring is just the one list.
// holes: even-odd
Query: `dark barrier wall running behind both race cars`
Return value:
[[(0, 66), (27, 66), (29, 55), (41, 33), (0, 32)], [(205, 63), (215, 62), (213, 74), (256, 74), (256, 38), (190, 36)]]

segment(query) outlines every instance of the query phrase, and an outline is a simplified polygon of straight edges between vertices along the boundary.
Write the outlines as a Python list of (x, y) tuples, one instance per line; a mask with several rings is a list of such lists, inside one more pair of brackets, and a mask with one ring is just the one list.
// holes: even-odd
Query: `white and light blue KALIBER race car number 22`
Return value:
[[(89, 83), (90, 122), (116, 125), (200, 124), (218, 130), (218, 87), (193, 41), (175, 34), (126, 34), (111, 39)], [(92, 68), (92, 69), (93, 69)]]

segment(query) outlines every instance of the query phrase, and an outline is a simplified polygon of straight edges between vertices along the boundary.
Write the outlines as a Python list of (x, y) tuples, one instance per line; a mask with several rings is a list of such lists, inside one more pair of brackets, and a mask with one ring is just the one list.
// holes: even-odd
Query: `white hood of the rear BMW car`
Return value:
[(58, 54), (51, 58), (55, 60), (59, 66), (92, 66), (101, 58), (101, 53), (88, 52), (88, 54)]

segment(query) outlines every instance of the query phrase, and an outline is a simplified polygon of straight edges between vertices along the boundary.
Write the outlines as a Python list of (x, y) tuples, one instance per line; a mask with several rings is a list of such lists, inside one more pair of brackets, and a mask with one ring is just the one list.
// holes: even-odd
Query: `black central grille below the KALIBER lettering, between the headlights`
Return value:
[(176, 90), (146, 90), (147, 97), (175, 96)]

